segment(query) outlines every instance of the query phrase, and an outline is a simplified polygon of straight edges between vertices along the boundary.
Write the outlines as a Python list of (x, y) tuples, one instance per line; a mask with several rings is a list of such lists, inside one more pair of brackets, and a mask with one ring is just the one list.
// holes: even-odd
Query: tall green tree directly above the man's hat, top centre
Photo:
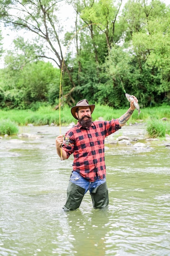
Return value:
[[(118, 43), (123, 29), (118, 25), (118, 6), (113, 1), (72, 1), (77, 13), (76, 27), (89, 25), (76, 35), (76, 58), (73, 60), (72, 75), (76, 81), (74, 99), (90, 97), (97, 100), (95, 95), (98, 84), (102, 83), (102, 64), (108, 56), (111, 43)], [(77, 30), (77, 29), (76, 29)], [(69, 61), (69, 60), (67, 60)]]

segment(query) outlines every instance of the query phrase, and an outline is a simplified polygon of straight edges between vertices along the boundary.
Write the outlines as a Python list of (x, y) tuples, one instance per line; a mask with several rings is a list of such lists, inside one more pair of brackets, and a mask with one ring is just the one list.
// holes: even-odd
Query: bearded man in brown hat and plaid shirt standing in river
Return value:
[(78, 101), (71, 108), (71, 113), (78, 123), (65, 134), (56, 137), (56, 149), (59, 157), (68, 159), (74, 156), (72, 173), (67, 189), (67, 199), (63, 206), (65, 211), (80, 207), (81, 201), (89, 190), (95, 209), (103, 209), (109, 204), (106, 183), (105, 137), (121, 129), (135, 110), (133, 96), (130, 108), (118, 119), (111, 121), (92, 121), (95, 105), (89, 105), (86, 99)]

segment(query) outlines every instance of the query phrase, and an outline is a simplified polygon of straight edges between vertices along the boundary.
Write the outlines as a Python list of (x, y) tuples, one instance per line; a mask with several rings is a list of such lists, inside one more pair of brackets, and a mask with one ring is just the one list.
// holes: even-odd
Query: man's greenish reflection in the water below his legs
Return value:
[(73, 255), (105, 255), (105, 227), (109, 222), (109, 214), (107, 209), (86, 212), (78, 209), (66, 213), (72, 234)]

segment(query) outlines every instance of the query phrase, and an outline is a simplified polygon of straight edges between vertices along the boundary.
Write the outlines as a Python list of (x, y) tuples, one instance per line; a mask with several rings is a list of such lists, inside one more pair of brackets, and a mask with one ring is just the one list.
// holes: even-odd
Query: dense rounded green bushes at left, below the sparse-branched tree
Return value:
[(1, 70), (1, 107), (32, 108), (38, 101), (55, 104), (56, 97), (59, 97), (59, 69), (49, 62), (37, 61), (17, 67), (16, 70), (11, 62)]

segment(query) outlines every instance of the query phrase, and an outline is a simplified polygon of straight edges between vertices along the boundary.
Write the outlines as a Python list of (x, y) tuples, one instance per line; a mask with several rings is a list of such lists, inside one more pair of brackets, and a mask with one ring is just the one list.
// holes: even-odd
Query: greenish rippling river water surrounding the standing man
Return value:
[[(87, 192), (78, 210), (65, 212), (73, 158), (61, 161), (56, 154), (59, 127), (21, 127), (20, 133), (29, 137), (0, 139), (0, 255), (170, 255), (170, 147), (164, 141), (144, 141), (144, 125), (110, 135), (109, 207), (93, 209)], [(112, 144), (120, 135), (147, 146)]]

